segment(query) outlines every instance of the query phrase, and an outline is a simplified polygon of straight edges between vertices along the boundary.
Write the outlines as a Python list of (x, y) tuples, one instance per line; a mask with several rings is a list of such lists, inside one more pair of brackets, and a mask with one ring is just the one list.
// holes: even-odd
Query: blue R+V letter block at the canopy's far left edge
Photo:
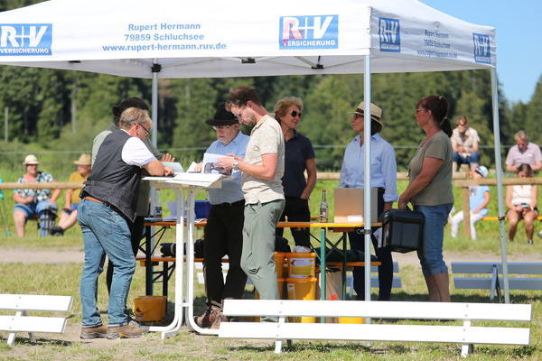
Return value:
[(50, 29), (46, 24), (5, 24), (0, 26), (0, 47), (35, 48)]

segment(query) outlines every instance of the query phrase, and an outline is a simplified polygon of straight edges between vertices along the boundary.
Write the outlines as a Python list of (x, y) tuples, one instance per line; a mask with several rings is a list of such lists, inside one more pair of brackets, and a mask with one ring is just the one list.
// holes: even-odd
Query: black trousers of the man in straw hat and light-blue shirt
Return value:
[[(378, 189), (378, 214), (384, 209), (384, 189)], [(373, 220), (374, 221), (374, 220)], [(373, 231), (377, 228), (373, 227)], [(361, 250), (365, 252), (365, 239), (363, 228), (356, 228), (348, 233), (350, 249)], [(378, 248), (378, 241), (375, 236), (370, 236), (378, 261), (378, 301), (389, 301), (391, 297), (391, 284), (393, 282), (393, 258), (389, 248)], [(356, 300), (365, 300), (365, 267), (354, 267), (354, 290), (356, 291)]]

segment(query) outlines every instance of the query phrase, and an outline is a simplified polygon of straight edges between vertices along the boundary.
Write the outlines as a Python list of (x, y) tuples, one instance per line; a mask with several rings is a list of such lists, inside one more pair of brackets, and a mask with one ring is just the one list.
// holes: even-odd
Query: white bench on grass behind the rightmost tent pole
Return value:
[[(542, 278), (513, 277), (514, 274), (542, 274), (542, 263), (509, 263), (509, 290), (542, 290)], [(456, 289), (490, 290), (490, 299), (503, 287), (502, 264), (498, 262), (453, 262)], [(455, 277), (456, 273), (487, 274), (484, 277)]]

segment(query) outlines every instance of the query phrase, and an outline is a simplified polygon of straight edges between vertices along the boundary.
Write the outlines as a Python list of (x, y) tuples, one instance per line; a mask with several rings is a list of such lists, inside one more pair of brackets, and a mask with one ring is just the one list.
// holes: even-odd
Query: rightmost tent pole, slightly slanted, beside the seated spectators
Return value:
[(499, 234), (500, 257), (502, 262), (502, 282), (504, 283), (504, 301), (510, 302), (509, 274), (507, 259), (507, 240), (505, 236), (504, 203), (502, 191), (502, 161), (500, 159), (500, 125), (499, 125), (499, 97), (497, 84), (497, 69), (491, 69), (491, 102), (493, 107), (493, 134), (495, 137), (495, 173), (497, 175), (497, 199), (499, 201)]

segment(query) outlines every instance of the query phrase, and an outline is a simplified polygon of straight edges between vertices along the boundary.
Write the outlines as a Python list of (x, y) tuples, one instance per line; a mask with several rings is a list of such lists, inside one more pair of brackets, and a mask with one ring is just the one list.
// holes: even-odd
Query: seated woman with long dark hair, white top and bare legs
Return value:
[[(534, 175), (530, 165), (523, 163), (516, 170), (519, 178), (529, 178)], [(509, 241), (514, 240), (516, 229), (521, 219), (525, 222), (525, 233), (528, 244), (533, 244), (534, 221), (538, 217), (537, 208), (538, 187), (537, 185), (522, 184), (507, 186), (506, 207), (509, 208), (506, 217), (509, 219)]]

